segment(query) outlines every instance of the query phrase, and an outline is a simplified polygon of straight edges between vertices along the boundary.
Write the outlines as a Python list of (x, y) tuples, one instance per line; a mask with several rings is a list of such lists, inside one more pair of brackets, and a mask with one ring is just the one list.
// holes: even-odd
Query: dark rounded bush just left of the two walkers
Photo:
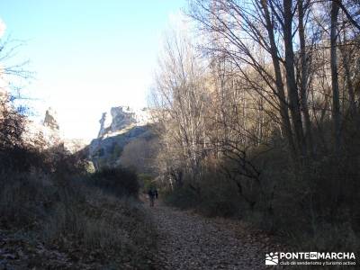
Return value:
[(139, 180), (135, 172), (121, 167), (103, 168), (91, 176), (91, 183), (117, 196), (139, 194)]

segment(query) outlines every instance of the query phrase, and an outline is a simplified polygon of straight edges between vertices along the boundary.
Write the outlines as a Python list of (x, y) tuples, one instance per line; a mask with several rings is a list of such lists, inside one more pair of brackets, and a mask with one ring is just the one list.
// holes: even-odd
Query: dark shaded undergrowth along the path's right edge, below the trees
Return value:
[(288, 157), (284, 148), (249, 151), (248, 158), (261, 172), (258, 181), (239, 175), (238, 165), (229, 159), (223, 159), (217, 169), (203, 166), (196, 182), (183, 177), (181, 187), (168, 189), (165, 202), (207, 216), (241, 218), (285, 236), (298, 249), (358, 250), (360, 159), (356, 148), (344, 150), (341, 158), (322, 153), (298, 174), (293, 173)]

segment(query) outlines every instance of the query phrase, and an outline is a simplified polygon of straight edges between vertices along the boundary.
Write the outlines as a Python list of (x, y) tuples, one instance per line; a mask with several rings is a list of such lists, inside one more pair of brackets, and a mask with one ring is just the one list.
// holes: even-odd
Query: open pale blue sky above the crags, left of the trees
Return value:
[(94, 138), (111, 106), (145, 106), (169, 17), (185, 0), (1, 0), (7, 35), (26, 40), (35, 79), (23, 94), (51, 106), (69, 138)]

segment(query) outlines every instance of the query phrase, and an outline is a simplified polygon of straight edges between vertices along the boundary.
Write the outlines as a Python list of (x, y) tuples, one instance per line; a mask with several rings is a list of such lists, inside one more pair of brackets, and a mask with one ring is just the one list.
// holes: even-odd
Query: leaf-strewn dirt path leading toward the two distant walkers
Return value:
[[(265, 269), (269, 238), (254, 236), (235, 221), (207, 219), (164, 205), (152, 208), (164, 269)], [(260, 238), (260, 239), (259, 239)]]

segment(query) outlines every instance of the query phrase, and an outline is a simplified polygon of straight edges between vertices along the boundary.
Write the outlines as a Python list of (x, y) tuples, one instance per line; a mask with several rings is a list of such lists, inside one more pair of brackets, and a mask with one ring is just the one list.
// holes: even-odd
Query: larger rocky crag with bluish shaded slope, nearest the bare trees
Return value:
[(121, 165), (120, 157), (125, 146), (139, 139), (146, 141), (154, 137), (148, 108), (112, 107), (110, 113), (103, 112), (99, 122), (98, 136), (88, 148), (89, 158), (96, 169)]

